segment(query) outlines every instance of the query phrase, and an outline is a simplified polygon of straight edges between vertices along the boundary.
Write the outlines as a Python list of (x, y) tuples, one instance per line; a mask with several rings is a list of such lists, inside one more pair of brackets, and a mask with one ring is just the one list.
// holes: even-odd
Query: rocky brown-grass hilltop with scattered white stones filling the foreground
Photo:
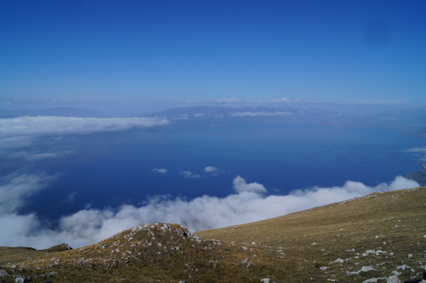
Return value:
[(195, 234), (154, 223), (74, 250), (3, 247), (0, 281), (420, 282), (425, 199), (422, 187)]

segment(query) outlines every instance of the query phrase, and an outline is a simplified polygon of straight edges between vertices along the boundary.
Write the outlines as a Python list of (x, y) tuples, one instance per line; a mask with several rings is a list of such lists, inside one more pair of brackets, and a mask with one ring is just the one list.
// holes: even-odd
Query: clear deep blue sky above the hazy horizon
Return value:
[(426, 1), (0, 1), (0, 108), (425, 91)]

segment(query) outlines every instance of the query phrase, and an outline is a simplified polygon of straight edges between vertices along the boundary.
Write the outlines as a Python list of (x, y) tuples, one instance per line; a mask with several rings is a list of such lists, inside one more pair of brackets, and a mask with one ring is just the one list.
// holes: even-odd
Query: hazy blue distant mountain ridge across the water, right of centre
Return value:
[[(311, 125), (382, 128), (414, 133), (426, 126), (421, 106), (332, 103), (185, 106), (141, 116), (164, 116), (177, 126)], [(190, 122), (190, 123), (189, 123)]]

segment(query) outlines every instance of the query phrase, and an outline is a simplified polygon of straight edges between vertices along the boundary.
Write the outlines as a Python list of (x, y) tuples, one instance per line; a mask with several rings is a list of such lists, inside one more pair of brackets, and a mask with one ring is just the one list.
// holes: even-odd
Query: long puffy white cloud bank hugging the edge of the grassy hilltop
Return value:
[(256, 182), (248, 183), (242, 177), (234, 179), (234, 194), (224, 198), (201, 196), (190, 201), (153, 196), (143, 206), (124, 205), (118, 209), (85, 209), (60, 219), (55, 231), (44, 228), (32, 213), (18, 215), (16, 208), (25, 202), (31, 192), (52, 182), (45, 175), (22, 175), (1, 179), (0, 192), (11, 194), (11, 205), (0, 202), (0, 245), (25, 245), (47, 248), (68, 243), (76, 248), (108, 238), (114, 233), (141, 223), (180, 223), (191, 231), (220, 228), (239, 223), (259, 221), (309, 209), (336, 201), (352, 199), (371, 192), (419, 187), (417, 182), (396, 177), (391, 183), (368, 187), (360, 182), (346, 182), (342, 187), (314, 187), (288, 195), (268, 195), (267, 189)]

